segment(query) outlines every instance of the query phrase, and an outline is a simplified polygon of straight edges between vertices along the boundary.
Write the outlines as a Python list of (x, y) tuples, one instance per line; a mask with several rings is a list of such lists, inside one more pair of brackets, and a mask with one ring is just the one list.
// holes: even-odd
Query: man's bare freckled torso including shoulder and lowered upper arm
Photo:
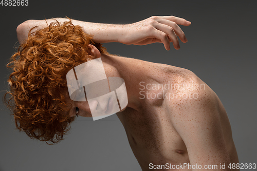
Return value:
[[(159, 93), (159, 98), (149, 96), (139, 100), (137, 107), (127, 106), (117, 113), (142, 170), (153, 170), (149, 169), (149, 163), (198, 163), (203, 166), (238, 163), (227, 113), (208, 85), (187, 69), (125, 59), (129, 61), (127, 65), (135, 67), (126, 72), (131, 75), (130, 82), (125, 82), (128, 99), (131, 99), (130, 94), (142, 98), (140, 82), (144, 82), (144, 86), (150, 84), (150, 90), (144, 89), (145, 97), (146, 91), (149, 95)], [(169, 82), (179, 87), (163, 91), (154, 86)], [(185, 86), (190, 84), (205, 84), (205, 89)], [(173, 98), (166, 98), (165, 93), (173, 94)], [(198, 97), (185, 98), (185, 93), (192, 96), (197, 93)]]

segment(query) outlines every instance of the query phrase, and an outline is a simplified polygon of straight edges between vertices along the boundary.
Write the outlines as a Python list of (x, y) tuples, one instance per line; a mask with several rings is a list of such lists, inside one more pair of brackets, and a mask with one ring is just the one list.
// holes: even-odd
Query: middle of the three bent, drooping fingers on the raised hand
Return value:
[(156, 29), (164, 32), (166, 35), (169, 36), (169, 38), (172, 41), (175, 49), (180, 48), (179, 47), (179, 42), (178, 42), (178, 39), (177, 39), (177, 35), (176, 35), (176, 33), (175, 33), (175, 31), (172, 27), (170, 27), (168, 25), (164, 25), (164, 24), (158, 24), (156, 26)]

